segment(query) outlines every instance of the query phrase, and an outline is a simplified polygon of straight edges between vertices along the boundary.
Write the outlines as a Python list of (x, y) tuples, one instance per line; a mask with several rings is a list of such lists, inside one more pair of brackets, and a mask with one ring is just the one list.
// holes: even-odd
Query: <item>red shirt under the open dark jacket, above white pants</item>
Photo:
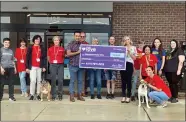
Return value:
[(41, 60), (41, 48), (40, 46), (33, 46), (32, 47), (32, 66), (40, 67), (40, 60)]

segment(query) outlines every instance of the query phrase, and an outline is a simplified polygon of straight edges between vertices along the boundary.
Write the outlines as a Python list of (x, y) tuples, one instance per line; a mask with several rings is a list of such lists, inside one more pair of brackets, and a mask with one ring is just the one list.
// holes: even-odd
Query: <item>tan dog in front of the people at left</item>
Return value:
[(51, 85), (48, 81), (42, 81), (41, 83), (41, 101), (43, 101), (44, 95), (47, 95), (48, 101), (50, 101)]

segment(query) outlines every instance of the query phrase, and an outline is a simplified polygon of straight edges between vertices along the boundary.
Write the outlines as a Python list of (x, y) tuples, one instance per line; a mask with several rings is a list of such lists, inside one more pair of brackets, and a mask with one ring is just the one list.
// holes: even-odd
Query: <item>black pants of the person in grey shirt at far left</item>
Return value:
[(9, 98), (14, 97), (14, 68), (5, 68), (5, 74), (1, 74), (0, 79), (0, 99), (3, 98), (4, 93), (4, 85), (5, 83), (8, 83), (8, 90), (9, 90)]

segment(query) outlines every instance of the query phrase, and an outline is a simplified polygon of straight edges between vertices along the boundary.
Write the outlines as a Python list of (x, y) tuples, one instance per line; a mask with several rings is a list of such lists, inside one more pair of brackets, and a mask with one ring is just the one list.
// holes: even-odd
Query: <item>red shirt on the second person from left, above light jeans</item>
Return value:
[(17, 59), (17, 72), (26, 71), (26, 53), (27, 49), (17, 48), (15, 51), (15, 58)]

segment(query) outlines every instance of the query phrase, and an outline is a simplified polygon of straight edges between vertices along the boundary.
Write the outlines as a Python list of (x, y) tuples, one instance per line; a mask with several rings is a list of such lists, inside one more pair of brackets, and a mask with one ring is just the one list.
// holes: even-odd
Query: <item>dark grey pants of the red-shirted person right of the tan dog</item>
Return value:
[[(58, 80), (58, 94), (63, 94), (64, 65), (50, 64), (51, 94), (56, 97), (56, 80)], [(57, 79), (56, 79), (57, 78)]]

